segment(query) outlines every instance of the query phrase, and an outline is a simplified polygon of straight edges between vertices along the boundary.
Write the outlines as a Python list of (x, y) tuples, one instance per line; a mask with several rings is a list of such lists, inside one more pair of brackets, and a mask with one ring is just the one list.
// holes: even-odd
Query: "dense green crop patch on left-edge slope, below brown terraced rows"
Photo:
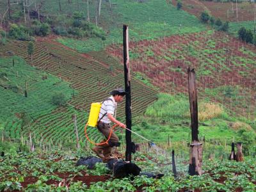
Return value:
[[(47, 79), (43, 79), (43, 72), (29, 66), (17, 56), (1, 58), (0, 69), (1, 123), (19, 122), (19, 114), (22, 112), (28, 113), (35, 120), (45, 111), (56, 109), (52, 104), (54, 92), (61, 92), (67, 99), (71, 96), (72, 89), (67, 82), (50, 74), (47, 74)], [(28, 97), (24, 97), (26, 81)]]

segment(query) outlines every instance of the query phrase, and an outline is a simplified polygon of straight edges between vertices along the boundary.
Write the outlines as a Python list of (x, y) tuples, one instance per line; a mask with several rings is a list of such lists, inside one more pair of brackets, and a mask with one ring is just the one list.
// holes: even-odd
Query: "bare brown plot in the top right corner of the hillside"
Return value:
[[(173, 1), (176, 6), (177, 1)], [(227, 2), (214, 2), (214, 1), (195, 1), (195, 0), (184, 0), (182, 1), (182, 9), (189, 12), (196, 17), (200, 17), (202, 12), (209, 11), (215, 18), (221, 20), (228, 20), (231, 22), (241, 22), (246, 20), (254, 20), (254, 4), (243, 2), (237, 3), (238, 13), (236, 14), (236, 3)], [(237, 17), (238, 16), (238, 17)]]

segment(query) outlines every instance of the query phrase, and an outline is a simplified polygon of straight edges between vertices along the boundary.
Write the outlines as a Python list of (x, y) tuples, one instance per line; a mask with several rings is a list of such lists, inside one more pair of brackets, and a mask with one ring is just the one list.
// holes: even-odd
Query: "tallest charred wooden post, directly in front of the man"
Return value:
[[(129, 65), (129, 36), (128, 36), (128, 26), (123, 26), (123, 37), (124, 37), (124, 81), (125, 81), (125, 116), (126, 116), (126, 126), (128, 129), (132, 129), (132, 113), (131, 113), (131, 74)], [(126, 141), (126, 151), (125, 151), (125, 161), (131, 161), (132, 158), (132, 139), (131, 131), (125, 130), (125, 141)]]

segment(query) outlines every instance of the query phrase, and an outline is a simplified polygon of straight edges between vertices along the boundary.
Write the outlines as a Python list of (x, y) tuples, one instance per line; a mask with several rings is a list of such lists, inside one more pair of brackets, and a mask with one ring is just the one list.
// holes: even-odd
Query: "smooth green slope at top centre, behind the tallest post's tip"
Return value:
[(109, 30), (105, 41), (99, 38), (83, 41), (60, 38), (59, 41), (79, 52), (88, 52), (99, 51), (109, 44), (122, 43), (122, 24), (129, 25), (129, 38), (132, 41), (205, 30), (204, 25), (195, 16), (178, 11), (172, 5), (166, 4), (166, 1), (150, 0), (138, 3), (131, 0), (115, 0), (111, 2), (115, 4), (111, 11), (109, 11), (109, 4), (102, 4), (102, 23), (104, 22), (106, 24), (104, 28)]

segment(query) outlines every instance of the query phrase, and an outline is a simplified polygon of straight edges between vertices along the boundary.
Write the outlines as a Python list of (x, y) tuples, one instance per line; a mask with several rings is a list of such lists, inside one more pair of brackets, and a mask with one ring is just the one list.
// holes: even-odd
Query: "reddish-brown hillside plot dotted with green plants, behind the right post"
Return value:
[[(122, 60), (120, 46), (112, 45), (108, 52)], [(253, 45), (225, 33), (207, 31), (131, 42), (130, 50), (132, 70), (146, 74), (151, 83), (164, 92), (187, 92), (186, 70), (194, 67), (200, 92), (222, 87), (214, 94), (222, 95), (224, 104), (233, 109), (232, 102), (236, 100), (240, 108), (255, 113), (255, 107), (249, 107), (255, 106), (256, 92)], [(216, 97), (212, 95), (212, 99)], [(237, 106), (234, 109), (237, 110)]]

